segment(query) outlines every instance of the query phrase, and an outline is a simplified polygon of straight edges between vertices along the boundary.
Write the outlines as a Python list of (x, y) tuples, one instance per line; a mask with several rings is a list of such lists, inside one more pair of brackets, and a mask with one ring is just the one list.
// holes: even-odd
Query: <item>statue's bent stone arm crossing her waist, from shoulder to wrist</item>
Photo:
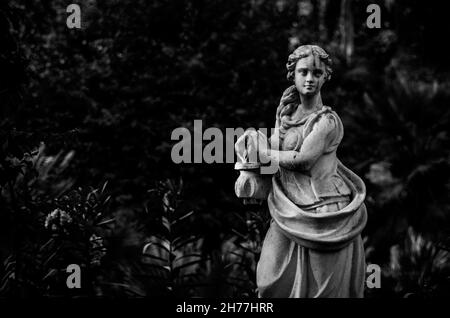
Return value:
[(305, 138), (300, 151), (267, 149), (263, 137), (259, 136), (259, 154), (265, 160), (278, 163), (280, 167), (290, 170), (308, 171), (324, 153), (330, 132), (335, 128), (333, 116), (323, 116)]

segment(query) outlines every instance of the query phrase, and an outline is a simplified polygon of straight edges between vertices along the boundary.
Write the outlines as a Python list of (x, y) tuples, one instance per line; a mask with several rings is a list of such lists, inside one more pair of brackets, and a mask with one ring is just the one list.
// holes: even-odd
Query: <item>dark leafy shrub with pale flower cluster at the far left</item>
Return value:
[[(4, 147), (5, 148), (5, 147)], [(114, 221), (107, 219), (111, 199), (101, 189), (74, 188), (64, 176), (73, 152), (45, 154), (45, 146), (2, 158), (3, 212), (12, 216), (14, 246), (4, 261), (3, 295), (65, 295), (66, 268), (78, 264), (84, 288), (94, 294), (104, 236)]]

